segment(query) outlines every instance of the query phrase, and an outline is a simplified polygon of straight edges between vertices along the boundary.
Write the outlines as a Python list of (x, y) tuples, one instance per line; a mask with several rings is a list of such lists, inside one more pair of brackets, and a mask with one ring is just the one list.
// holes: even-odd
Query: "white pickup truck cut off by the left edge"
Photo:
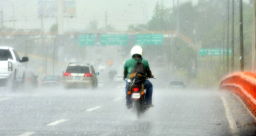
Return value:
[(27, 62), (28, 57), (20, 60), (16, 51), (11, 47), (0, 46), (0, 87), (10, 87), (15, 91), (17, 83), (25, 80), (25, 67), (22, 62)]

